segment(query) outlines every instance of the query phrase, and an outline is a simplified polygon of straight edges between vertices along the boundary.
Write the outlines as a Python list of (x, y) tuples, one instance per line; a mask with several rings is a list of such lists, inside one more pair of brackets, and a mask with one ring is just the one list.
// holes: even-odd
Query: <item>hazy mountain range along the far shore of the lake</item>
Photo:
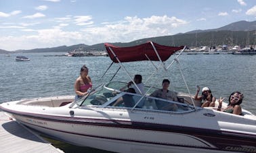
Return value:
[[(112, 44), (119, 47), (133, 46), (142, 44), (144, 42), (153, 41), (167, 46), (181, 46), (200, 47), (200, 46), (216, 46), (222, 44), (228, 45), (251, 45), (256, 44), (256, 21), (247, 22), (239, 21), (220, 28), (209, 30), (193, 30), (186, 33), (179, 33), (171, 36), (158, 36), (152, 38), (143, 38), (132, 42), (122, 43), (114, 42)], [(75, 44), (72, 46), (52, 47), (45, 49), (30, 49), (18, 51), (5, 51), (0, 49), (0, 53), (45, 53), (45, 52), (69, 52), (74, 49), (81, 49), (82, 51), (104, 51), (104, 43), (86, 45)]]

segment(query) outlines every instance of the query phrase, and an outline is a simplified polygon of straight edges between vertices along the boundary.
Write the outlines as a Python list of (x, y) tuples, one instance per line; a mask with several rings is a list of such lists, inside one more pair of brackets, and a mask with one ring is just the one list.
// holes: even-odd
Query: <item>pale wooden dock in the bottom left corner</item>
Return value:
[(9, 120), (3, 111), (0, 111), (0, 152), (1, 153), (64, 153), (62, 150), (51, 146), (37, 133), (20, 125), (16, 121)]

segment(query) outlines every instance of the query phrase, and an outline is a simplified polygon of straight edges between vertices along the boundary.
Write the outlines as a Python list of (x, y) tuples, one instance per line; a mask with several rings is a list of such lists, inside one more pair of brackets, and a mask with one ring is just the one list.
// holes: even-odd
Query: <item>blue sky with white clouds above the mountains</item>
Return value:
[(256, 0), (0, 0), (0, 49), (131, 42), (256, 20)]

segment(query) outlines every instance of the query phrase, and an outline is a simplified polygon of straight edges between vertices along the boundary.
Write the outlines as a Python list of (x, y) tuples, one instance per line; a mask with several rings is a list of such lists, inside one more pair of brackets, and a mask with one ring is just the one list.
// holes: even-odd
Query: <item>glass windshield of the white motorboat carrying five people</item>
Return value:
[[(175, 113), (194, 111), (193, 106), (182, 102), (156, 98), (149, 96), (150, 94), (147, 94), (148, 96), (142, 96), (140, 94), (121, 91), (121, 88), (124, 86), (127, 86), (124, 82), (110, 82), (105, 86), (97, 88), (95, 91), (91, 92), (87, 98), (79, 100), (77, 104), (79, 106), (139, 109), (144, 111), (167, 111)], [(152, 88), (151, 90), (156, 90), (156, 88)]]

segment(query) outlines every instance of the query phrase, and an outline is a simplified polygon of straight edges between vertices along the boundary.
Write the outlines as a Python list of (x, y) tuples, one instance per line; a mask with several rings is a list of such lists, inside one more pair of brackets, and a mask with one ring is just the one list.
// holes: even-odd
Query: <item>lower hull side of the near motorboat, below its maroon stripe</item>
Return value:
[(19, 115), (13, 117), (32, 129), (64, 142), (112, 152), (181, 152), (182, 150), (186, 152), (219, 152), (219, 150), (209, 150), (209, 147), (215, 148), (215, 146), (208, 142), (183, 133), (67, 124)]

